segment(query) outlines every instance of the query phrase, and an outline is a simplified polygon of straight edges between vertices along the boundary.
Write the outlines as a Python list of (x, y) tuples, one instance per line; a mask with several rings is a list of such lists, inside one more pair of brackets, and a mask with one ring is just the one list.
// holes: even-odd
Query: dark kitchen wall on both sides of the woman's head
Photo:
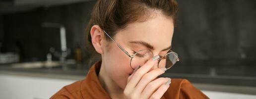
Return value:
[[(42, 22), (64, 24), (67, 47), (73, 50), (76, 44), (83, 44), (83, 31), (94, 3), (2, 15), (3, 50), (14, 50), (13, 45), (19, 41), (24, 59), (42, 60), (49, 48), (59, 49), (58, 29), (43, 28)], [(178, 0), (178, 4), (173, 49), (181, 57), (180, 64), (238, 64), (256, 60), (256, 0)], [(84, 54), (89, 55), (86, 50)]]

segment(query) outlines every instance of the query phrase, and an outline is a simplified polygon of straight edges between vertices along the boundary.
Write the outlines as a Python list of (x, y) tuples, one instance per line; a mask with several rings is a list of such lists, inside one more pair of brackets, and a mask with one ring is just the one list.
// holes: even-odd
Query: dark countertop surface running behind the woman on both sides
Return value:
[[(12, 68), (9, 64), (0, 64), (0, 71), (69, 75), (84, 78), (89, 67), (84, 65), (67, 65), (52, 68)], [(202, 66), (177, 65), (167, 70), (163, 77), (185, 78), (192, 83), (220, 84), (256, 87), (256, 66)], [(63, 77), (65, 78), (65, 77)], [(69, 79), (69, 78), (66, 78)]]

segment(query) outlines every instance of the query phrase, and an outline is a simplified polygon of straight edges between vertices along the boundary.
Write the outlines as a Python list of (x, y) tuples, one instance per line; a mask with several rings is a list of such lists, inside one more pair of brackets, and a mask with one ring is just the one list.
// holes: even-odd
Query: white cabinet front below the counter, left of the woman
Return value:
[(74, 81), (0, 74), (0, 99), (49, 99)]

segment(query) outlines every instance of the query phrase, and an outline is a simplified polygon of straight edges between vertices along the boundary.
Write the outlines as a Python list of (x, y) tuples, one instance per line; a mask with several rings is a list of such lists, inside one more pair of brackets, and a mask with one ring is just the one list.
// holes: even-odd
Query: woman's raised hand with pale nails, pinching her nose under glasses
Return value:
[[(124, 90), (126, 99), (160, 99), (169, 88), (170, 78), (157, 78), (166, 71), (166, 68), (157, 68), (149, 71), (155, 64), (159, 55), (149, 59), (140, 68), (128, 77), (127, 86)], [(139, 69), (138, 69), (139, 68)]]

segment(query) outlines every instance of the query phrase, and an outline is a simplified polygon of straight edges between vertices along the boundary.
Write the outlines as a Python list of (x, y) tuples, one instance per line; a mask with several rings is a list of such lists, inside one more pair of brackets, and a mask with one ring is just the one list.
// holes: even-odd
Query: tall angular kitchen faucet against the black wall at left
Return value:
[[(48, 28), (60, 28), (60, 37), (61, 37), (61, 54), (57, 54), (60, 58), (60, 62), (64, 64), (65, 58), (68, 55), (68, 50), (66, 48), (66, 30), (63, 24), (59, 23), (49, 23), (49, 22), (44, 22), (42, 23), (43, 27), (48, 27)], [(52, 48), (51, 48), (52, 49)]]

